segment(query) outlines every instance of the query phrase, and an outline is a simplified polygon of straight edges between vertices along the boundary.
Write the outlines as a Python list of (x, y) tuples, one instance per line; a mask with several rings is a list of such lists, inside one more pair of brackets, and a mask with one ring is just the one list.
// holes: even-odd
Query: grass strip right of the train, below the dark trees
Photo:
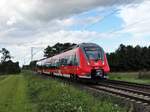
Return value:
[(150, 84), (150, 73), (147, 72), (146, 75), (139, 76), (139, 72), (127, 72), (127, 73), (110, 73), (109, 78), (113, 80), (123, 80), (129, 82)]

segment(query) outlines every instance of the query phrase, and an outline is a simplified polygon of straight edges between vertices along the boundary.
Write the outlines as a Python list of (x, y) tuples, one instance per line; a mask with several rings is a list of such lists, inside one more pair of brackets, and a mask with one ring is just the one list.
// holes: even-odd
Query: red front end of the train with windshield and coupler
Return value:
[[(92, 79), (107, 78), (107, 73), (110, 71), (107, 57), (104, 50), (93, 43), (86, 43), (81, 46), (84, 59), (81, 60), (83, 71), (86, 71), (87, 76)], [(84, 61), (85, 60), (85, 61)]]

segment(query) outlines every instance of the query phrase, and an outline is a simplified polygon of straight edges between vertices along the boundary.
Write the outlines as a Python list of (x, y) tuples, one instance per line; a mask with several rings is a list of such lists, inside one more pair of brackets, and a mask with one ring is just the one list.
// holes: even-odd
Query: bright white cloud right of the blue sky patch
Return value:
[(134, 37), (149, 36), (150, 32), (150, 1), (141, 4), (127, 5), (120, 8), (119, 17), (124, 21), (123, 32), (131, 33)]

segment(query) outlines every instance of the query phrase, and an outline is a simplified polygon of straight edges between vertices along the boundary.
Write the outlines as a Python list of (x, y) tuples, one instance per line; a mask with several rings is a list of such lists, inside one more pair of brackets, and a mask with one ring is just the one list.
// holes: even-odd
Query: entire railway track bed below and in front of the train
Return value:
[(86, 86), (92, 90), (96, 90), (99, 92), (104, 91), (108, 94), (123, 97), (129, 101), (134, 101), (136, 103), (150, 106), (150, 85), (128, 83), (115, 80), (97, 81), (97, 83), (95, 83), (94, 80), (79, 79), (72, 82), (72, 80), (65, 77), (56, 76), (55, 78), (67, 82), (69, 81), (71, 83), (75, 82), (77, 84), (80, 84), (81, 86)]

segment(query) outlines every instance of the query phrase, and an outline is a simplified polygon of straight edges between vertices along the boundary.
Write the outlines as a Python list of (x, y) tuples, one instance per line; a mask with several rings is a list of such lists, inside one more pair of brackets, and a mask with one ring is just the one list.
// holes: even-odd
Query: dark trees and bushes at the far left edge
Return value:
[(0, 74), (15, 74), (20, 72), (19, 62), (13, 62), (10, 52), (2, 48), (0, 50), (1, 61), (0, 61)]

